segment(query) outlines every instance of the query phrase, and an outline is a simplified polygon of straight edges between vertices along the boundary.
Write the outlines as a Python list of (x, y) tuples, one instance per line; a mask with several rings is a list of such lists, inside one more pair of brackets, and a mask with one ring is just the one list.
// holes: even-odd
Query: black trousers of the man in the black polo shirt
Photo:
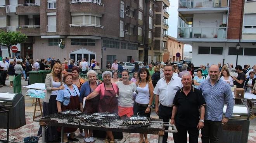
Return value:
[(189, 143), (198, 143), (198, 128), (189, 128), (177, 123), (175, 126), (178, 130), (178, 133), (173, 133), (173, 139), (175, 143), (187, 143), (187, 131), (189, 133)]

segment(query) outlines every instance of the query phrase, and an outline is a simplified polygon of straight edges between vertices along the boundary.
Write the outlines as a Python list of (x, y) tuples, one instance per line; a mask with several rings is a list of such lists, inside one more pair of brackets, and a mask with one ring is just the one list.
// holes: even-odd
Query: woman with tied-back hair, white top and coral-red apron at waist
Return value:
[[(122, 71), (123, 81), (116, 82), (118, 86), (118, 115), (121, 119), (133, 116), (133, 92), (136, 91), (137, 86), (134, 82), (129, 81), (129, 71)], [(120, 143), (130, 143), (130, 133), (123, 133), (123, 139)]]

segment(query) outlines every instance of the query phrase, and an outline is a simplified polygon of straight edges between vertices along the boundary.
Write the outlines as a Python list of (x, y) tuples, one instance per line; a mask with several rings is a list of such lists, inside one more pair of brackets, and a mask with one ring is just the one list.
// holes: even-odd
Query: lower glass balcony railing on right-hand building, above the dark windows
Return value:
[(179, 38), (226, 39), (227, 27), (178, 27)]

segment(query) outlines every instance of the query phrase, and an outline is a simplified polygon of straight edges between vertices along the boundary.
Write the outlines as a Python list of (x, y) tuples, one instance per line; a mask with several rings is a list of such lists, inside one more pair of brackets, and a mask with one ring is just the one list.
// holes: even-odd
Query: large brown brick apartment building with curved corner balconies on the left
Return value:
[[(103, 68), (114, 59), (162, 61), (169, 5), (168, 0), (1, 0), (0, 30), (28, 35), (13, 56), (96, 59)], [(7, 47), (1, 52), (7, 56)]]

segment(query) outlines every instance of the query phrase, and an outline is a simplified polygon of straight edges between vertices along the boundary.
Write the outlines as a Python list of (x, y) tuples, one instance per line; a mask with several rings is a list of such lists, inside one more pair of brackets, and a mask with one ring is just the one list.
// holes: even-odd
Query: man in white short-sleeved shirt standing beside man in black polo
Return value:
[[(164, 67), (164, 77), (161, 78), (154, 89), (156, 114), (159, 119), (169, 123), (173, 109), (173, 99), (176, 92), (183, 87), (180, 77), (173, 76), (173, 67), (166, 65)], [(158, 103), (160, 105), (158, 106)], [(168, 127), (165, 127), (168, 130)], [(164, 133), (163, 143), (167, 143), (168, 133)]]

